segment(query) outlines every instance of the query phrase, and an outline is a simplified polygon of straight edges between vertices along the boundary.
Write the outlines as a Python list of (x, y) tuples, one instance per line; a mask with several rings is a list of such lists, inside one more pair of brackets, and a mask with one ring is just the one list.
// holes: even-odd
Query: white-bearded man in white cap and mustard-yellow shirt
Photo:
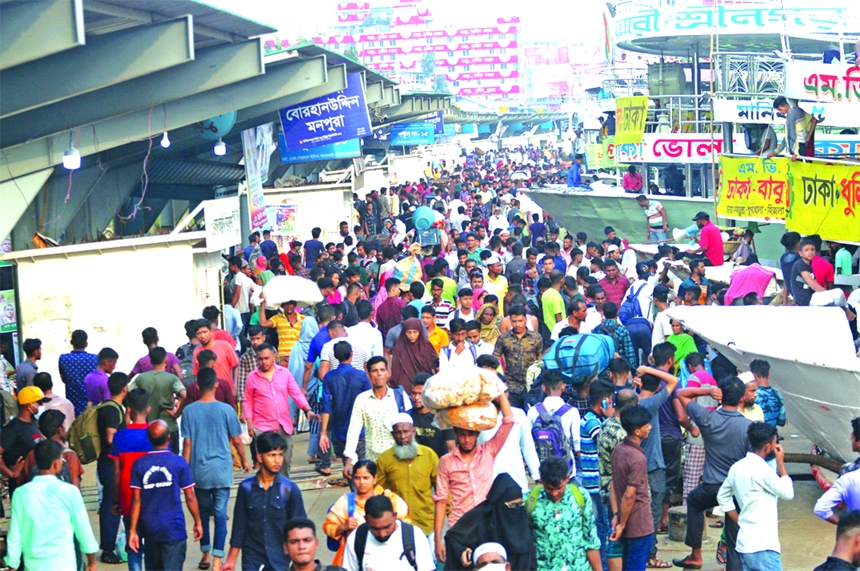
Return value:
[(415, 427), (409, 413), (400, 413), (391, 422), (394, 446), (376, 460), (376, 483), (406, 501), (412, 525), (418, 527), (434, 545), (433, 488), (439, 457), (432, 448), (415, 442)]

